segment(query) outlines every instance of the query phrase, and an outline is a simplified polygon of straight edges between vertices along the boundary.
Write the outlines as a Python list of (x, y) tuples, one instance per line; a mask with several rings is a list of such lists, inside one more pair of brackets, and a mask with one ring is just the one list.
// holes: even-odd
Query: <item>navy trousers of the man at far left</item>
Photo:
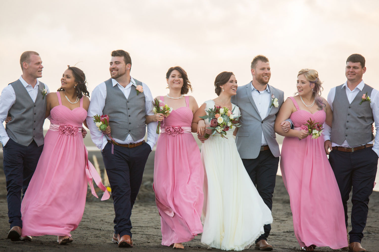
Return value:
[(6, 179), (6, 200), (11, 228), (22, 227), (21, 191), (23, 195), (29, 186), (31, 177), (36, 170), (43, 145), (31, 142), (28, 146), (17, 144), (9, 138), (3, 146), (3, 167)]

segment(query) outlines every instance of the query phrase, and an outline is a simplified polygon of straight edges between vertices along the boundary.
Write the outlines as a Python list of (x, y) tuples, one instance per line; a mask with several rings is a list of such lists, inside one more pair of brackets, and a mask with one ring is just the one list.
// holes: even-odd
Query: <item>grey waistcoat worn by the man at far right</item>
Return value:
[(345, 88), (340, 85), (335, 88), (333, 100), (333, 122), (330, 141), (342, 144), (345, 139), (350, 146), (363, 145), (374, 139), (371, 124), (374, 122), (373, 110), (370, 102), (364, 101), (363, 94), (371, 96), (372, 87), (363, 87), (354, 100), (349, 104)]

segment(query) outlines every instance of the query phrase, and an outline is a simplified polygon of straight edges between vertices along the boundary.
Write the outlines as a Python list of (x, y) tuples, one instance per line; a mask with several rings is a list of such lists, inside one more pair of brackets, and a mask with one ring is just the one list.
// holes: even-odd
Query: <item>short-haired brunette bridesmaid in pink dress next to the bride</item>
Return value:
[[(153, 189), (161, 216), (162, 245), (184, 249), (183, 242), (203, 232), (200, 217), (204, 168), (199, 147), (191, 134), (191, 131), (197, 132), (197, 124), (192, 123), (192, 119), (199, 107), (193, 96), (183, 96), (192, 91), (183, 68), (169, 68), (166, 80), (169, 93), (156, 98), (174, 110), (164, 120), (163, 114), (146, 116), (146, 124), (161, 121), (154, 157)], [(177, 130), (183, 133), (176, 133)]]

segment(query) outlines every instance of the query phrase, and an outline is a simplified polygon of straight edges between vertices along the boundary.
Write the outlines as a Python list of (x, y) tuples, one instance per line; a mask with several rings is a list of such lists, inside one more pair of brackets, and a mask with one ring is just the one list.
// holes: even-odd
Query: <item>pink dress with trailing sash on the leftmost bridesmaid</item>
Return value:
[(87, 111), (80, 107), (70, 110), (59, 105), (50, 111), (50, 129), (36, 171), (21, 203), (22, 235), (71, 236), (78, 227), (86, 204), (87, 183), (97, 197), (92, 178), (105, 190), (102, 200), (109, 193), (101, 183), (99, 174), (88, 161), (88, 151), (81, 135)]

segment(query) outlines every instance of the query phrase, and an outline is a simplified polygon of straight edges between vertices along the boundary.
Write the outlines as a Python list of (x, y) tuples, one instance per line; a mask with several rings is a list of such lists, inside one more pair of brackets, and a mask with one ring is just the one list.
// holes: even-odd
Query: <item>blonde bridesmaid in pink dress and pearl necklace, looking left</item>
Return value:
[[(312, 139), (305, 130), (309, 119), (331, 126), (332, 110), (321, 97), (323, 88), (316, 70), (300, 70), (296, 87), (297, 95), (283, 103), (275, 121), (276, 133), (285, 136), (280, 170), (290, 195), (295, 236), (304, 251), (316, 246), (345, 248), (345, 214), (323, 136)], [(288, 117), (295, 128), (285, 132), (280, 122)]]

